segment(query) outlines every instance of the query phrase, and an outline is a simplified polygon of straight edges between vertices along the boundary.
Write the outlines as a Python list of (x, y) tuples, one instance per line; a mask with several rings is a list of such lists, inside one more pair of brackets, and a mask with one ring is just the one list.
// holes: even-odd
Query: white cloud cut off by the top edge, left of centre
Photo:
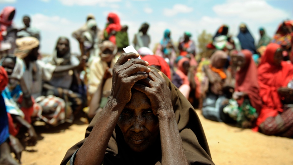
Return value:
[(66, 6), (93, 6), (96, 4), (110, 3), (110, 2), (120, 2), (121, 0), (59, 0), (63, 5)]

